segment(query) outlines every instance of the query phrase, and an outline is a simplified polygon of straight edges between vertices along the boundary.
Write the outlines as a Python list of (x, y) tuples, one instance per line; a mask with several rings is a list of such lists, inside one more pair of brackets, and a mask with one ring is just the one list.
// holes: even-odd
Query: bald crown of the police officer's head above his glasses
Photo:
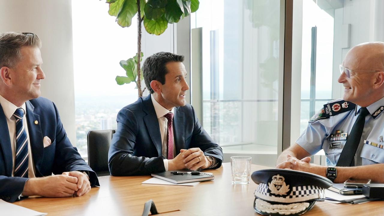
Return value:
[(368, 42), (354, 46), (345, 56), (343, 65), (352, 70), (384, 71), (384, 43)]

